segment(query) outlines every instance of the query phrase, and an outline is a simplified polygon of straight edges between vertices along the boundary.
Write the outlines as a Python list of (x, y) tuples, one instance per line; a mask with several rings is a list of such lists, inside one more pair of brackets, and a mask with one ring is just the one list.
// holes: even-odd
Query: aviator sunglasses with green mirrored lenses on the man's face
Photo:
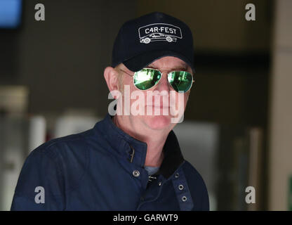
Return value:
[[(121, 71), (127, 75), (130, 75), (124, 70)], [(139, 90), (145, 91), (147, 89), (151, 89), (159, 83), (162, 77), (162, 72), (157, 69), (143, 68), (142, 70), (135, 72), (134, 75), (130, 76), (133, 77), (135, 87)], [(168, 72), (167, 79), (175, 91), (183, 92), (189, 91), (192, 87), (192, 83), (194, 82), (192, 74), (187, 71)]]

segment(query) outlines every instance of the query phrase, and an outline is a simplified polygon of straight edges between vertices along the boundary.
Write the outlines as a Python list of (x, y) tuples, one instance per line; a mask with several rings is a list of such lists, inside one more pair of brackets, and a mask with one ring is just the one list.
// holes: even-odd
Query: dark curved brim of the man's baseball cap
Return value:
[(141, 70), (142, 68), (145, 68), (147, 65), (154, 62), (155, 60), (157, 60), (159, 58), (163, 58), (165, 56), (174, 56), (174, 57), (180, 58), (185, 63), (187, 63), (187, 65), (190, 65), (190, 67), (192, 68), (192, 70), (194, 72), (193, 63), (190, 62), (190, 60), (188, 60), (185, 56), (183, 56), (182, 54), (177, 53), (175, 51), (160, 50), (160, 51), (146, 52), (146, 53), (142, 53), (138, 56), (135, 56), (133, 58), (130, 58), (130, 59), (124, 61), (123, 63), (126, 66), (126, 68), (128, 68), (129, 70), (131, 70), (133, 72), (136, 72), (136, 71)]

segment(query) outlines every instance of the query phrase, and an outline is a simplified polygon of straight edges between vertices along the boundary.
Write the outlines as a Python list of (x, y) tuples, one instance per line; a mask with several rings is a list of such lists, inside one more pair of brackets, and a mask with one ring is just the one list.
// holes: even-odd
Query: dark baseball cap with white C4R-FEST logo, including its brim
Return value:
[(194, 71), (190, 28), (171, 15), (154, 12), (121, 26), (112, 50), (112, 67), (124, 63), (135, 72), (164, 56), (178, 57)]

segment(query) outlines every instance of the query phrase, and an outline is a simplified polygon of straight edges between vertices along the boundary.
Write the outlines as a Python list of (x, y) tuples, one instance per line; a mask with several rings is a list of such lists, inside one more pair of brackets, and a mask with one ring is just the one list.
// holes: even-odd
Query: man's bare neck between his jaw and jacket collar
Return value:
[(152, 130), (149, 128), (141, 129), (141, 126), (135, 126), (135, 124), (127, 121), (126, 118), (121, 118), (117, 115), (112, 120), (126, 134), (147, 143), (145, 166), (160, 167), (164, 160), (163, 148), (169, 131)]

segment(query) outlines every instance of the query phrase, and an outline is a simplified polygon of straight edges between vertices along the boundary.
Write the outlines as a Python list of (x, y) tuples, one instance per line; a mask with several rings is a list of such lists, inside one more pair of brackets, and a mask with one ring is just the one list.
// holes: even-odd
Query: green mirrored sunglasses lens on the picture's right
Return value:
[(189, 91), (192, 86), (192, 74), (186, 71), (173, 71), (168, 74), (168, 82), (175, 91)]

